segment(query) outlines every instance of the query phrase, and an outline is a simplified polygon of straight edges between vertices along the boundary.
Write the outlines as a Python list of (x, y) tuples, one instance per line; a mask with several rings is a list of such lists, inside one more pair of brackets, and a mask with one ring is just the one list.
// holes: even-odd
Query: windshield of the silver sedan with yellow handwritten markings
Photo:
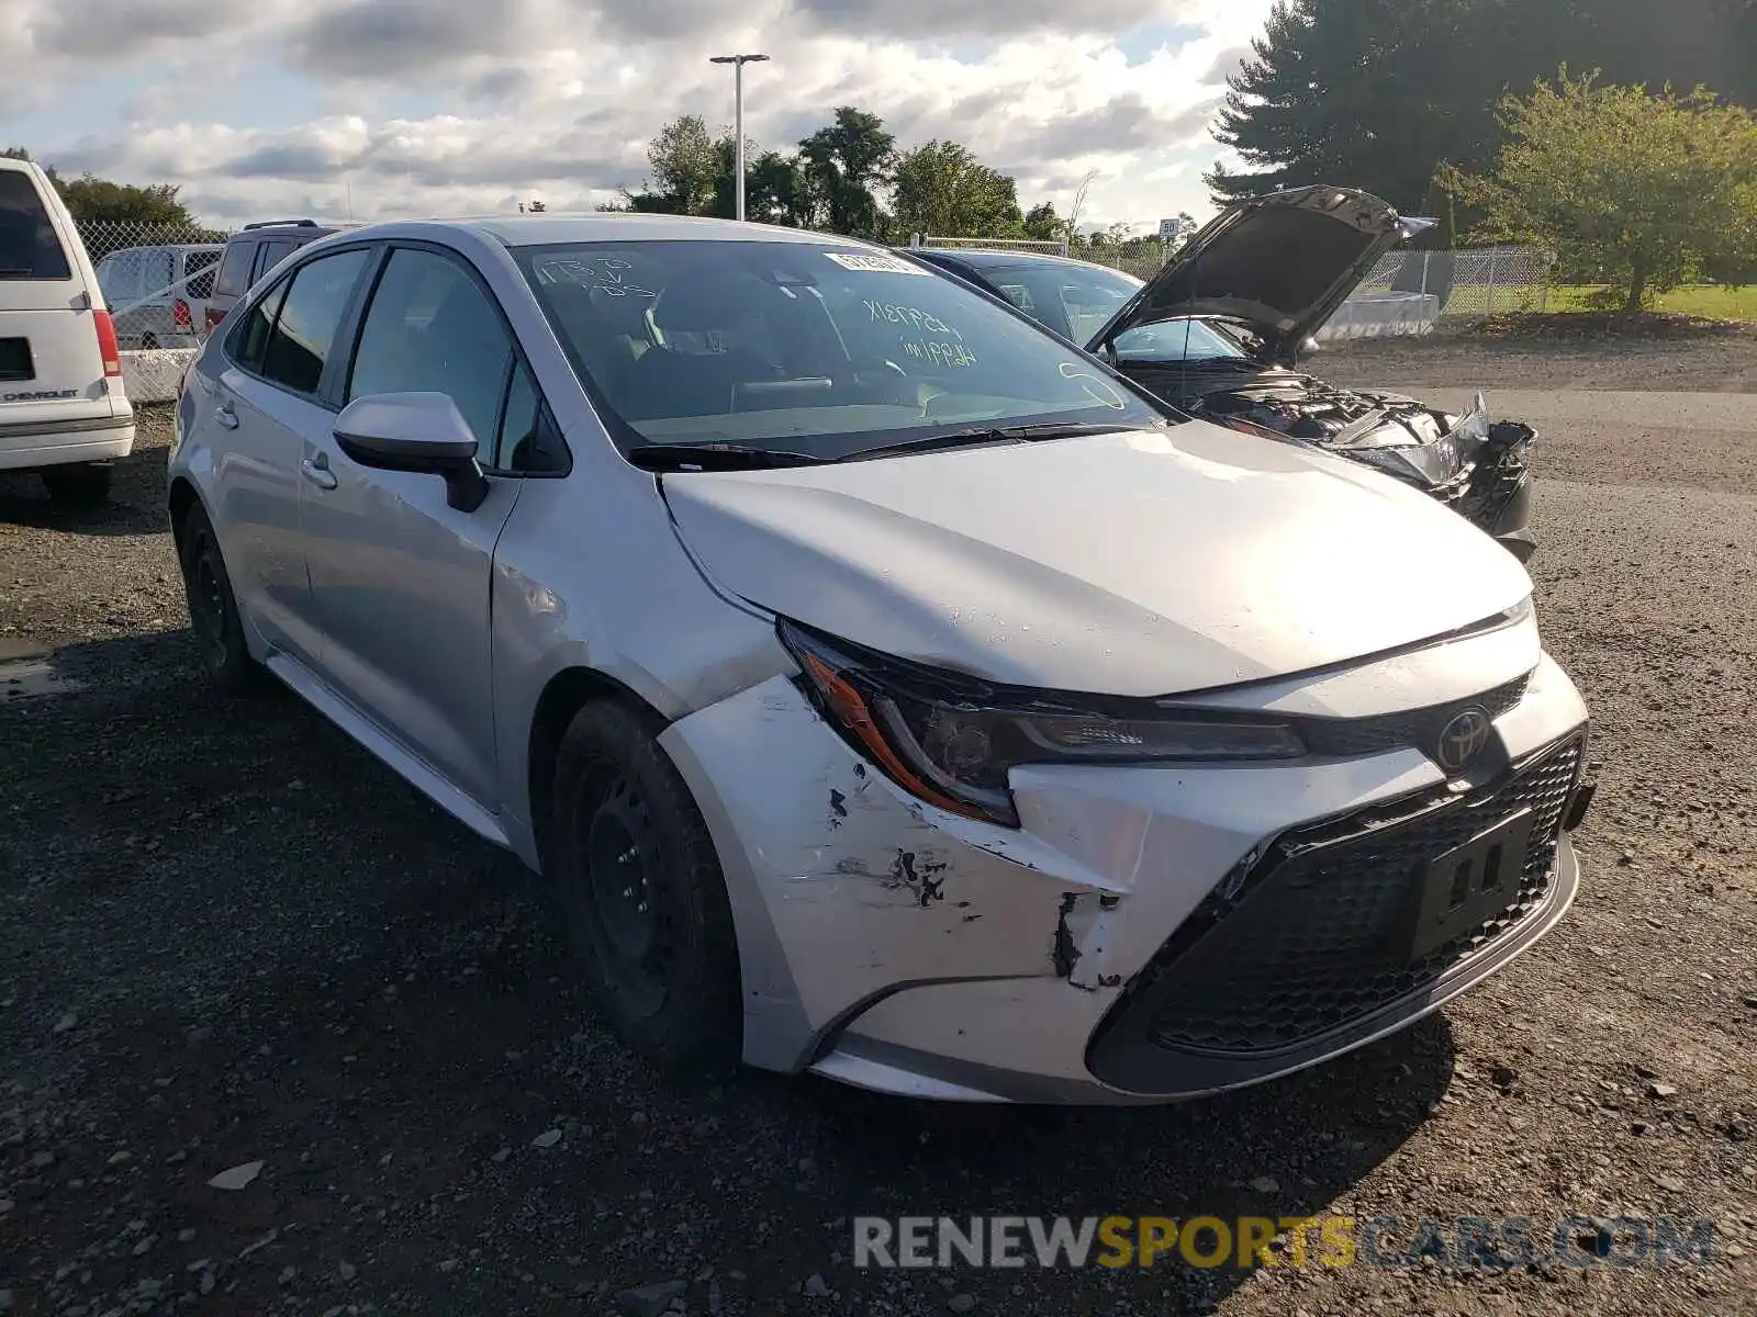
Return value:
[(835, 460), (952, 430), (1168, 420), (1091, 358), (900, 256), (741, 241), (513, 255), (625, 427), (624, 451), (736, 444)]

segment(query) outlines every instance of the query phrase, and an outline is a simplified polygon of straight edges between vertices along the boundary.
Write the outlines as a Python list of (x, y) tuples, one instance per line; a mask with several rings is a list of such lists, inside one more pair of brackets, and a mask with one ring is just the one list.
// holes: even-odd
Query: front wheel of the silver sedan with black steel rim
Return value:
[(720, 860), (645, 720), (585, 704), (562, 736), (545, 869), (592, 997), (633, 1048), (676, 1071), (743, 1052), (738, 936)]

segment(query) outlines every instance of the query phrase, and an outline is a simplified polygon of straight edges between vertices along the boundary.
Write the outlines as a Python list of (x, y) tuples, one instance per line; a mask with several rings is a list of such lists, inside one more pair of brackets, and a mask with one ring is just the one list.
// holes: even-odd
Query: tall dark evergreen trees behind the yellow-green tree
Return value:
[(1214, 130), (1244, 169), (1207, 184), (1339, 183), (1432, 214), (1442, 163), (1488, 169), (1500, 98), (1562, 61), (1757, 105), (1757, 0), (1277, 0)]

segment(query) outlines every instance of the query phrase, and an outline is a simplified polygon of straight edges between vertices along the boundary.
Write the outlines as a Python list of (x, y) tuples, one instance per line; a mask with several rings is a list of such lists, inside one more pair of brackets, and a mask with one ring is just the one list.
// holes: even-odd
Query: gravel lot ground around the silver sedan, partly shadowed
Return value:
[[(536, 880), (290, 695), (200, 685), (163, 414), (102, 516), (0, 478), (0, 1310), (578, 1313), (685, 1282), (691, 1313), (1757, 1312), (1757, 395), (1720, 388), (1757, 388), (1757, 342), (1734, 348), (1327, 355), (1335, 379), (1486, 385), (1544, 432), (1539, 615), (1604, 764), (1583, 897), (1442, 1017), (1161, 1110), (655, 1078), (582, 1001)], [(1722, 395), (1553, 392), (1613, 378)], [(849, 1259), (856, 1213), (1318, 1212), (1710, 1217), (1718, 1252)]]

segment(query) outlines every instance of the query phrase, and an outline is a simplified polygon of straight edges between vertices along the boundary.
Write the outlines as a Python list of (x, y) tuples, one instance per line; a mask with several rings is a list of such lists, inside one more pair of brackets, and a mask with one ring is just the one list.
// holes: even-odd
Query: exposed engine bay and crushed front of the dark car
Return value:
[(1490, 421), (1481, 395), (1460, 416), (1400, 393), (1337, 388), (1249, 362), (1123, 362), (1119, 369), (1202, 420), (1297, 439), (1377, 467), (1500, 537), (1522, 558), (1534, 548), (1509, 532), (1529, 520), (1527, 453), (1537, 432), (1520, 421)]

